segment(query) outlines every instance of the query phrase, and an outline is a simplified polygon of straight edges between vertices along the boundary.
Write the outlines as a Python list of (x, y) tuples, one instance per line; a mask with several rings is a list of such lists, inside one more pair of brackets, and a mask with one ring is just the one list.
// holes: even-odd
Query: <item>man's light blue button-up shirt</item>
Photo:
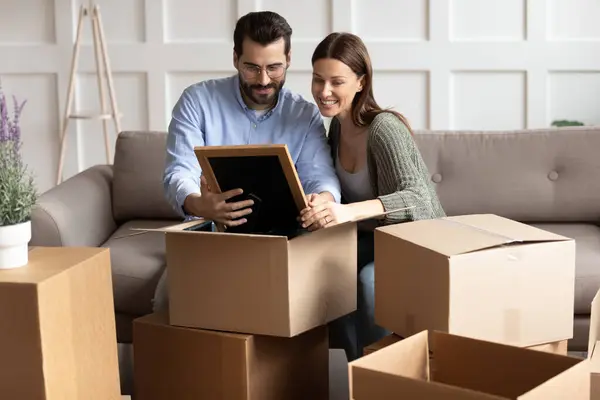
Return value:
[(183, 202), (200, 192), (195, 146), (286, 144), (304, 192), (330, 192), (340, 201), (325, 127), (316, 105), (283, 87), (275, 107), (258, 116), (244, 103), (239, 77), (211, 79), (186, 88), (173, 108), (167, 139), (164, 188), (186, 217)]

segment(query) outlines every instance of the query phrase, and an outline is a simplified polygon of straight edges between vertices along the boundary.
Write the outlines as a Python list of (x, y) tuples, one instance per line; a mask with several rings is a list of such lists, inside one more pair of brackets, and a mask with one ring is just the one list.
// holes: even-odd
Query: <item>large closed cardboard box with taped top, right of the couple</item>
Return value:
[(573, 337), (575, 241), (496, 215), (375, 232), (375, 319), (518, 347)]

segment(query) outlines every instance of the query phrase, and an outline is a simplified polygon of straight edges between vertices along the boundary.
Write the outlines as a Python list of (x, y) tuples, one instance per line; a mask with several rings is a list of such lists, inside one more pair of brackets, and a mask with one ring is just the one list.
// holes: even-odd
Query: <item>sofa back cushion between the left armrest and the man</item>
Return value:
[(132, 219), (177, 219), (163, 190), (165, 132), (122, 132), (113, 169), (113, 216)]

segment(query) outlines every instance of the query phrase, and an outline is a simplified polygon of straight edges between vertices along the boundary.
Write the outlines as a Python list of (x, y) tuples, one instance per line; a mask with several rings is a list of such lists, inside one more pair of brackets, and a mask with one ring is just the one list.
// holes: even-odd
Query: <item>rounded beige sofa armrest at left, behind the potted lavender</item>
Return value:
[(96, 165), (43, 193), (31, 215), (31, 246), (99, 247), (117, 229), (113, 169)]

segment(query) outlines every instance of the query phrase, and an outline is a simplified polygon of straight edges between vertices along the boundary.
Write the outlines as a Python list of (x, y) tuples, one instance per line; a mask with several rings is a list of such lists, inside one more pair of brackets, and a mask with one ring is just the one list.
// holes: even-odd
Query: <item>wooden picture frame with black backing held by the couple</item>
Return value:
[[(229, 227), (228, 232), (267, 234), (271, 231), (269, 226), (277, 231), (293, 222), (298, 224), (300, 211), (308, 207), (285, 144), (196, 146), (194, 153), (212, 191), (222, 193), (242, 188), (244, 194), (230, 201), (245, 199), (250, 194), (262, 200), (259, 214), (253, 216), (260, 215), (261, 221)], [(224, 230), (219, 225), (218, 229)]]

